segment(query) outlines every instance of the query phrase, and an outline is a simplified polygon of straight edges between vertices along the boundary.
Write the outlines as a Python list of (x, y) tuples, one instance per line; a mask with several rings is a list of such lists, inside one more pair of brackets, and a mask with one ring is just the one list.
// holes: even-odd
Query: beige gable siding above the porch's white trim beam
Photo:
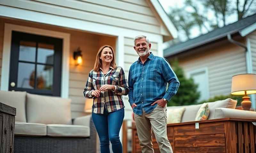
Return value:
[(161, 29), (159, 17), (155, 16), (155, 12), (144, 0), (139, 3), (134, 0), (3, 0), (1, 4), (125, 29), (169, 35)]

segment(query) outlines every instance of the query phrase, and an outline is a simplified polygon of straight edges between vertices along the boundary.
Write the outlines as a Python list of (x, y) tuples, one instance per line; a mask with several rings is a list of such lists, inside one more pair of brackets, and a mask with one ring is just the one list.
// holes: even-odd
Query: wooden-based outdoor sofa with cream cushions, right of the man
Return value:
[[(236, 100), (225, 99), (208, 103), (207, 120), (195, 121), (202, 104), (169, 106), (167, 109), (185, 107), (180, 123), (167, 125), (167, 136), (175, 153), (255, 153), (256, 112), (238, 110)], [(169, 111), (168, 111), (169, 112)], [(168, 117), (168, 114), (167, 114)], [(153, 135), (155, 153), (159, 153)], [(132, 123), (132, 153), (140, 153), (135, 122)]]

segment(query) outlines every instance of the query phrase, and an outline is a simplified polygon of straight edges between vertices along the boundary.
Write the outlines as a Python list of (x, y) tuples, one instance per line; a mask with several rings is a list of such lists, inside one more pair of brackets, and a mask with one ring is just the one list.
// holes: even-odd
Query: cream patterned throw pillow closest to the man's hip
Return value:
[(185, 111), (185, 107), (182, 108), (174, 108), (167, 109), (167, 124), (171, 123), (180, 123), (183, 112)]

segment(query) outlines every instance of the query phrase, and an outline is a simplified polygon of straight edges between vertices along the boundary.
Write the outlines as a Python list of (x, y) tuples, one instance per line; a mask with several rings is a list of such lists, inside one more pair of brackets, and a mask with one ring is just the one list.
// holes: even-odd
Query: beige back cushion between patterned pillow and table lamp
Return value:
[(225, 100), (218, 100), (215, 102), (208, 103), (210, 107), (210, 114), (208, 117), (208, 120), (213, 120), (215, 119), (215, 109), (216, 108), (236, 108), (236, 100), (233, 100), (231, 98), (227, 98)]

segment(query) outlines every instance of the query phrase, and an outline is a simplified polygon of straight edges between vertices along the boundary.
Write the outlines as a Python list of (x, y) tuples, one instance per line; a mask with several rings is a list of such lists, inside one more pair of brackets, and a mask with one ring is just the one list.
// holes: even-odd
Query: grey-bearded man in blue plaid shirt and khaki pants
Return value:
[[(167, 138), (166, 103), (179, 88), (179, 80), (168, 61), (149, 52), (146, 36), (134, 38), (134, 49), (140, 56), (129, 70), (129, 102), (132, 106), (142, 153), (154, 153), (152, 129), (161, 153), (172, 153)], [(166, 85), (169, 87), (166, 91)]]

